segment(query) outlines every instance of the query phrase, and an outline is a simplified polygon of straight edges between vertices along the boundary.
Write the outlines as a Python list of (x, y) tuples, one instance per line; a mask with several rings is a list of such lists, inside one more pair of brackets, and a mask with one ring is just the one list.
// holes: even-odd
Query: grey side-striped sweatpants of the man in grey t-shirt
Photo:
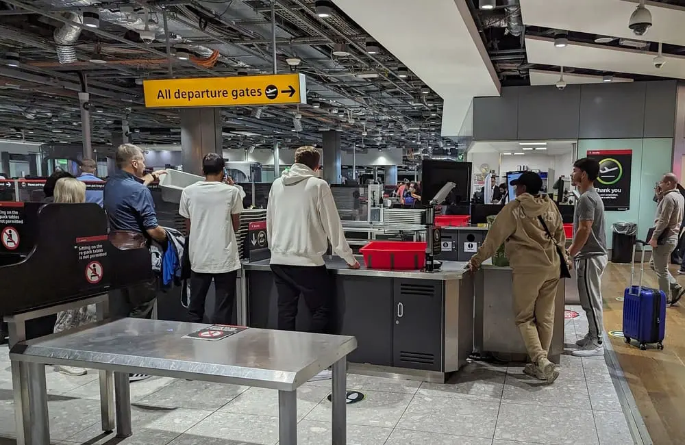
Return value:
[(601, 343), (603, 312), (601, 298), (601, 275), (607, 264), (607, 256), (579, 258), (575, 262), (578, 276), (580, 305), (588, 316), (590, 338)]

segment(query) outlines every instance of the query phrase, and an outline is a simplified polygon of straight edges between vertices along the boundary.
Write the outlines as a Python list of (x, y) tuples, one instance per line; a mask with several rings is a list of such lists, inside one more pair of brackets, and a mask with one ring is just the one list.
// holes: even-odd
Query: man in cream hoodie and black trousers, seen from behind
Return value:
[(278, 329), (295, 331), (302, 294), (312, 314), (309, 331), (327, 333), (332, 283), (323, 262), (330, 240), (351, 268), (359, 263), (349, 248), (331, 188), (316, 177), (321, 155), (314, 147), (295, 151), (295, 164), (273, 181), (266, 206), (266, 237), (278, 291)]

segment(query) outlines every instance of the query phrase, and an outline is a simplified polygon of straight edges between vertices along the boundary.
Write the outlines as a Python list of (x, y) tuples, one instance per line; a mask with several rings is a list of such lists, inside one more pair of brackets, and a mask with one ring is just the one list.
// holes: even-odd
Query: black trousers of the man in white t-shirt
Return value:
[(188, 303), (188, 318), (192, 323), (201, 323), (205, 316), (205, 301), (210, 284), (214, 280), (216, 302), (214, 314), (210, 323), (215, 325), (230, 325), (233, 316), (233, 304), (236, 301), (236, 279), (238, 270), (232, 272), (210, 274), (190, 274), (190, 303)]

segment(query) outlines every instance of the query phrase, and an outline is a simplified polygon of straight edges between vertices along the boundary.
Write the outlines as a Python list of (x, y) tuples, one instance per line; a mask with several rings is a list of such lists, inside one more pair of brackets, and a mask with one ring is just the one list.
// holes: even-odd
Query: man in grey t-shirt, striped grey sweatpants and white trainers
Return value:
[(604, 355), (602, 344), (603, 312), (601, 276), (606, 268), (604, 203), (593, 183), (599, 175), (599, 162), (584, 157), (573, 164), (573, 183), (581, 192), (573, 212), (573, 244), (569, 256), (575, 257), (580, 304), (588, 316), (588, 333), (572, 351), (577, 357)]

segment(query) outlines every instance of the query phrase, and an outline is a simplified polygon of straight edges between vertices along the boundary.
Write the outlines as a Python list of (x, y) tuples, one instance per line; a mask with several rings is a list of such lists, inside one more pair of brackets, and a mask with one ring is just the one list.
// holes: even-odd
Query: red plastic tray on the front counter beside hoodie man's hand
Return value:
[(368, 269), (419, 270), (426, 264), (426, 243), (420, 241), (372, 241), (359, 251)]

